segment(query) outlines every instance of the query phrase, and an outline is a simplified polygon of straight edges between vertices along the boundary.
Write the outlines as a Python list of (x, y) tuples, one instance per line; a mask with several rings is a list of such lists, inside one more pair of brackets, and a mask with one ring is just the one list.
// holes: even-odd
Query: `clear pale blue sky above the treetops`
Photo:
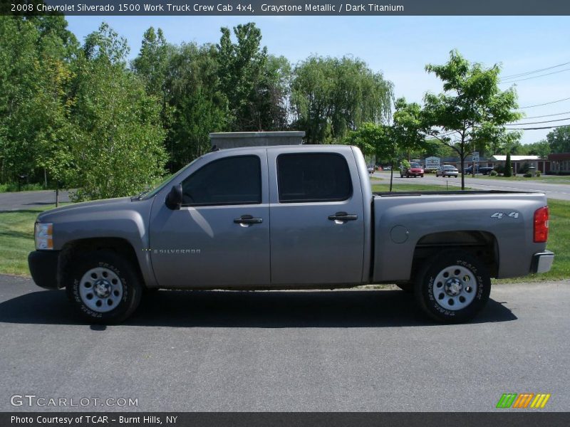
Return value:
[[(167, 41), (216, 43), (219, 28), (254, 21), (270, 53), (291, 63), (312, 53), (352, 55), (394, 83), (395, 96), (421, 102), (426, 91), (440, 92), (441, 83), (424, 71), (426, 63), (445, 63), (457, 48), (472, 62), (502, 63), (502, 75), (514, 75), (570, 62), (569, 16), (68, 16), (69, 29), (83, 41), (106, 21), (128, 39), (130, 56), (140, 48), (142, 33), (162, 28)], [(564, 70), (565, 65), (545, 71)], [(539, 75), (537, 73), (534, 75)], [(529, 75), (532, 77), (534, 75)], [(527, 76), (525, 76), (527, 77)], [(516, 83), (519, 105), (536, 105), (570, 97), (570, 70)], [(509, 85), (501, 85), (508, 88)], [(523, 109), (527, 117), (570, 112), (570, 100)], [(525, 119), (555, 120), (567, 115)], [(570, 120), (551, 125), (570, 125)], [(544, 125), (533, 125), (547, 126)], [(527, 127), (532, 127), (531, 125)], [(526, 131), (523, 143), (544, 139), (549, 130)]]

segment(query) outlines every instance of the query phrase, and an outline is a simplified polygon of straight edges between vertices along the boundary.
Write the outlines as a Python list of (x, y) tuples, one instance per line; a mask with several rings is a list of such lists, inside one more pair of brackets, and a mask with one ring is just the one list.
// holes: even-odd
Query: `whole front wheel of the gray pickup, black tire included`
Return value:
[(92, 323), (123, 322), (142, 295), (142, 280), (132, 263), (110, 251), (78, 255), (63, 281), (72, 305)]

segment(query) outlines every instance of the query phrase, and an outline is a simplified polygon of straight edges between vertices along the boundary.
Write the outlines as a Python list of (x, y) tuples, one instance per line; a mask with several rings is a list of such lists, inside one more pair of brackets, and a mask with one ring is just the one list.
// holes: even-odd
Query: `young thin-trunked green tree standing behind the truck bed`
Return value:
[[(444, 90), (439, 95), (427, 93), (424, 97), (427, 132), (457, 152), (461, 169), (465, 167), (465, 157), (476, 150), (484, 151), (493, 139), (502, 140), (505, 145), (518, 139), (518, 134), (507, 132), (503, 126), (522, 115), (515, 111), (518, 105), (514, 88), (498, 88), (499, 65), (484, 68), (451, 51), (447, 63), (428, 64), (425, 70), (442, 80)], [(464, 175), (461, 188), (465, 189)]]

